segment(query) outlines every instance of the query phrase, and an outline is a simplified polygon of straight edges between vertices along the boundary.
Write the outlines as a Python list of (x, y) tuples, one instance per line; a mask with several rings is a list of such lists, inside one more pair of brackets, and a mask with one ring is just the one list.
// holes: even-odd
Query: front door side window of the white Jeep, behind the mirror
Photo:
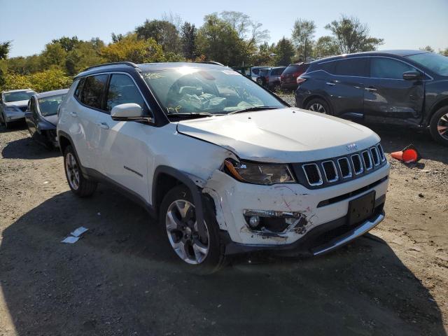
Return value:
[(110, 112), (114, 106), (127, 103), (139, 104), (142, 109), (145, 108), (144, 99), (130, 76), (114, 74), (109, 84), (106, 110)]

